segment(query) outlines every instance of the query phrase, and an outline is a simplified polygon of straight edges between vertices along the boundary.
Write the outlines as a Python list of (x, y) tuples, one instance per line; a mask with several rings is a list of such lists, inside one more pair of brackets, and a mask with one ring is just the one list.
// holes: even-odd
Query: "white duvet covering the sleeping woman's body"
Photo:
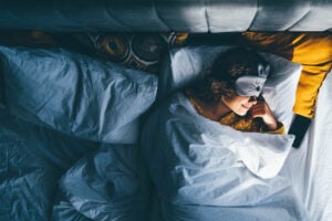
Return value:
[(198, 115), (180, 93), (143, 128), (142, 148), (165, 220), (307, 220), (278, 176), (290, 135), (241, 133)]

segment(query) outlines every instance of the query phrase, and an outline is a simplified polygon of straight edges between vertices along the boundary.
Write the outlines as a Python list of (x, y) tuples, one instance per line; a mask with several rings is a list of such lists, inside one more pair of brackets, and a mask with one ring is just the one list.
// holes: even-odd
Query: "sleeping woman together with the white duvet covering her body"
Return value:
[(269, 72), (257, 52), (230, 49), (148, 115), (141, 150), (163, 220), (307, 220), (279, 176), (293, 137), (262, 98)]

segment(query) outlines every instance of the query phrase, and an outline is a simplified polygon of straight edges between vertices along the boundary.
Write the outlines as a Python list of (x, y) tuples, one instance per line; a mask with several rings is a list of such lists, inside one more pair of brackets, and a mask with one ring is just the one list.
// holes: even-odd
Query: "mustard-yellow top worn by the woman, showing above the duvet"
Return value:
[[(199, 106), (197, 105), (197, 102), (190, 97), (190, 103), (195, 107), (198, 114), (203, 115), (204, 117), (208, 117), (208, 114), (206, 114)], [(219, 120), (220, 124), (230, 126), (237, 130), (241, 131), (257, 131), (257, 133), (268, 133), (268, 134), (284, 134), (284, 127), (281, 123), (278, 122), (278, 128), (276, 130), (268, 130), (266, 128), (266, 125), (262, 123), (260, 118), (252, 118), (250, 116), (239, 116), (235, 114), (234, 112), (230, 112), (222, 116)]]

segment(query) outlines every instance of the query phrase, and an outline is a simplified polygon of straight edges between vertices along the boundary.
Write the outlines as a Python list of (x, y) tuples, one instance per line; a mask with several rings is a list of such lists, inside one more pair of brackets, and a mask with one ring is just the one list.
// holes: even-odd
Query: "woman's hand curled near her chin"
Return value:
[(264, 101), (258, 101), (257, 104), (251, 107), (250, 112), (253, 118), (262, 118), (269, 130), (276, 130), (278, 128), (278, 122)]

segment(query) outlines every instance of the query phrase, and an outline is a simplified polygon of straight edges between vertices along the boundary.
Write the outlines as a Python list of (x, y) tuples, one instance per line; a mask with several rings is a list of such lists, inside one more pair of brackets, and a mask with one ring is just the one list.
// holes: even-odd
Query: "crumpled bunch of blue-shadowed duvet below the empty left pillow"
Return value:
[(148, 197), (137, 155), (135, 145), (103, 145), (61, 179), (64, 198), (75, 211), (92, 220), (147, 220)]

